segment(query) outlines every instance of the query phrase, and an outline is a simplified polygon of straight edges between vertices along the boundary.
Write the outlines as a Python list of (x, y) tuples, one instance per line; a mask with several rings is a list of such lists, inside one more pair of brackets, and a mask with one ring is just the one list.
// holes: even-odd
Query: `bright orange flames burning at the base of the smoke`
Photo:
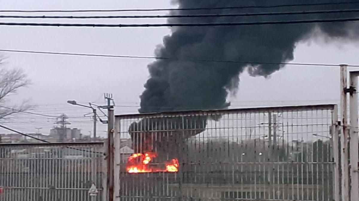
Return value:
[(177, 158), (173, 158), (171, 161), (164, 162), (164, 167), (160, 165), (151, 164), (153, 158), (157, 157), (157, 153), (134, 153), (127, 161), (127, 172), (128, 173), (145, 173), (145, 172), (178, 172)]

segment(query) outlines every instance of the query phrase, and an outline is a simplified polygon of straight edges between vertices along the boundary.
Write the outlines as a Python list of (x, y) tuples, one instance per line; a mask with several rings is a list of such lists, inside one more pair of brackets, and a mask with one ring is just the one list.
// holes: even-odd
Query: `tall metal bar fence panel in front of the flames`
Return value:
[(336, 110), (317, 105), (116, 116), (121, 137), (115, 144), (131, 139), (134, 149), (116, 164), (117, 198), (334, 200)]

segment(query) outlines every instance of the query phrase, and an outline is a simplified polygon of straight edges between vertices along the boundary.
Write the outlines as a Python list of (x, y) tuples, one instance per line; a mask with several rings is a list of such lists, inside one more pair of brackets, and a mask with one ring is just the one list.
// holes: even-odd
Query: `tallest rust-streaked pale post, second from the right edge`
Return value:
[(347, 98), (348, 88), (348, 65), (340, 65), (340, 121), (341, 121), (341, 193), (342, 201), (349, 200), (349, 162), (348, 162), (348, 117), (347, 117)]

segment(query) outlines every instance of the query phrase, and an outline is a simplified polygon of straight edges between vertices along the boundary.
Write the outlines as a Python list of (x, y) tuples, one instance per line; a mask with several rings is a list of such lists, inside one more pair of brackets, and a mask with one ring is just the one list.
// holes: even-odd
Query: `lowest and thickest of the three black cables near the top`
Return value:
[(67, 23), (13, 23), (1, 22), (0, 25), (7, 26), (65, 26), (65, 27), (172, 27), (172, 26), (248, 26), (248, 25), (270, 25), (270, 24), (307, 24), (307, 23), (331, 23), (359, 21), (359, 18), (336, 18), (336, 19), (313, 19), (313, 20), (290, 20), (290, 21), (256, 21), (256, 22), (234, 22), (234, 23), (164, 23), (164, 24), (67, 24)]

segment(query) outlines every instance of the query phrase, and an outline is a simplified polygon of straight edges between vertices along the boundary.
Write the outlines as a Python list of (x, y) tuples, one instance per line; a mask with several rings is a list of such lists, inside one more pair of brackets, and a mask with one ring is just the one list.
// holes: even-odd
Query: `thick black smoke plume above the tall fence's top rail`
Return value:
[[(174, 0), (179, 8), (218, 8), (231, 6), (263, 6), (281, 4), (348, 2), (349, 0)], [(173, 11), (176, 14), (261, 13), (303, 10), (358, 9), (359, 4), (295, 6), (271, 9)], [(300, 19), (332, 19), (359, 16), (358, 13), (279, 15), (251, 17), (172, 18), (169, 23), (221, 23), (241, 21), (274, 21)], [(320, 36), (330, 40), (357, 40), (356, 22), (209, 26), (171, 28), (163, 44), (155, 50), (158, 59), (149, 64), (150, 78), (141, 95), (139, 112), (162, 112), (227, 107), (228, 93), (236, 93), (239, 74), (245, 69), (252, 76), (268, 76), (282, 65), (250, 62), (280, 63), (294, 59), (298, 41)], [(314, 34), (315, 33), (315, 34)], [(201, 60), (239, 60), (248, 63), (199, 62)], [(192, 60), (192, 61), (191, 61)]]

